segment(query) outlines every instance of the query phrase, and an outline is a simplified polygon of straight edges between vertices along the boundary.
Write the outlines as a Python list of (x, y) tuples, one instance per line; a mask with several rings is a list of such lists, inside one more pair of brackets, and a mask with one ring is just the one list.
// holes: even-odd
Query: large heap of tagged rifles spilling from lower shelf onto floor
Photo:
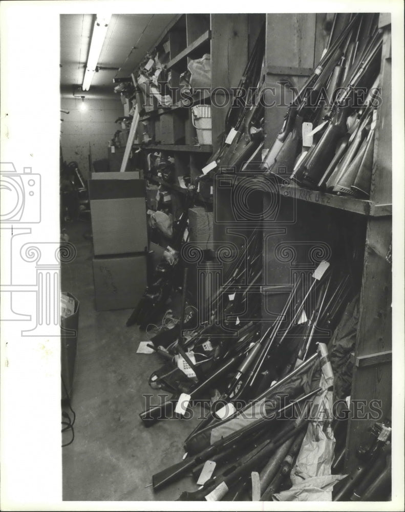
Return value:
[[(245, 251), (250, 253), (250, 264), (243, 267), (248, 270), (240, 270), (238, 260), (230, 269), (225, 285), (207, 305), (209, 323), (188, 330), (186, 339), (181, 324), (178, 329), (153, 338), (156, 351), (167, 362), (152, 373), (150, 385), (173, 396), (143, 411), (140, 418), (144, 425), (169, 417), (190, 417), (193, 409), (189, 406), (208, 404), (204, 419), (185, 440), (187, 458), (153, 477), (154, 488), (159, 490), (193, 470), (201, 484), (199, 477), (204, 463), (209, 461), (215, 466), (214, 476), (210, 474), (201, 489), (183, 493), (180, 499), (219, 500), (226, 495), (226, 500), (240, 500), (251, 488), (252, 471), (260, 473), (262, 500), (271, 499), (288, 484), (289, 471), (304, 438), (304, 420), (302, 417), (298, 423), (272, 420), (276, 412), (286, 410), (291, 411), (289, 418), (294, 417), (295, 402), (307, 402), (320, 391), (316, 343), (328, 341), (331, 329), (352, 295), (348, 276), (331, 268), (328, 262), (321, 262), (309, 283), (302, 279), (288, 289), (277, 287), (280, 289), (276, 291), (286, 293), (287, 300), (264, 333), (261, 324), (252, 321), (241, 320), (237, 326), (235, 315), (243, 310), (246, 290), (261, 275), (261, 261), (254, 253), (257, 244), (255, 230), (242, 248), (242, 261)], [(238, 289), (238, 283), (247, 285)], [(260, 311), (260, 301), (247, 304), (249, 318), (254, 318)], [(237, 306), (232, 316), (234, 305)], [(212, 322), (218, 311), (222, 324)], [(229, 336), (224, 326), (238, 328), (236, 335)], [(179, 365), (182, 359), (183, 365)], [(184, 362), (190, 367), (186, 372)], [(213, 389), (217, 393), (209, 400)], [(252, 404), (263, 401), (266, 403), (264, 418), (259, 415), (257, 421), (239, 423), (238, 418), (243, 418), (243, 414), (256, 411)], [(237, 424), (229, 434), (231, 423), (228, 422), (233, 420)], [(218, 429), (221, 438), (213, 441)]]

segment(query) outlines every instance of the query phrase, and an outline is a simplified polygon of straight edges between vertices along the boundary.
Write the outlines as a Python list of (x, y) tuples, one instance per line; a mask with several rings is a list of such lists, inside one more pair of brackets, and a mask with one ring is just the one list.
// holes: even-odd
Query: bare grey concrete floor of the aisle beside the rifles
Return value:
[[(144, 393), (158, 392), (148, 377), (161, 366), (156, 354), (137, 354), (145, 333), (125, 327), (132, 310), (96, 312), (92, 242), (88, 221), (69, 223), (76, 259), (62, 265), (62, 291), (80, 301), (76, 375), (72, 407), (76, 412), (74, 442), (62, 449), (63, 500), (176, 500), (183, 490), (196, 490), (190, 477), (154, 493), (152, 475), (181, 461), (183, 441), (198, 423), (161, 420), (145, 428), (138, 417)], [(197, 411), (198, 412), (198, 411)], [(63, 442), (70, 434), (63, 434)]]

